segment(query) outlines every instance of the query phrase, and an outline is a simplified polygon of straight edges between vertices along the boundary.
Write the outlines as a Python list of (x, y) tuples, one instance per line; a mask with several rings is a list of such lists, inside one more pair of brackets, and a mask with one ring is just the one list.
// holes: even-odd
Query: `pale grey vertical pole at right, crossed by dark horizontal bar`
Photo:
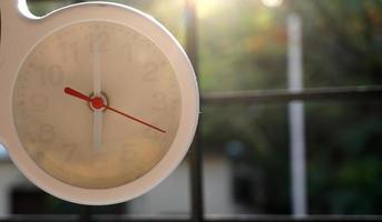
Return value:
[[(287, 17), (287, 33), (288, 88), (291, 92), (302, 92), (303, 63), (301, 19), (295, 13), (292, 13)], [(288, 107), (288, 115), (293, 215), (295, 218), (301, 218), (306, 215), (305, 130), (303, 102), (292, 101)]]

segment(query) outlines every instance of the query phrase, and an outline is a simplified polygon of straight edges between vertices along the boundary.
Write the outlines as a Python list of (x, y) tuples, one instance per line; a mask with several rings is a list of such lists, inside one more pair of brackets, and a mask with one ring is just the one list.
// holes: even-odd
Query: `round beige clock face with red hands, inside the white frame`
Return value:
[(109, 21), (66, 26), (26, 57), (13, 89), (19, 140), (52, 178), (85, 189), (129, 183), (170, 148), (182, 95), (148, 38)]

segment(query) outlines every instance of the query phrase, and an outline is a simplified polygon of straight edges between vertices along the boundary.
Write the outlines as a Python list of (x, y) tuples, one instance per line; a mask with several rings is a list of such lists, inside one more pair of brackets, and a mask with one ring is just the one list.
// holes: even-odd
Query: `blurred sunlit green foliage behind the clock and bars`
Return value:
[[(31, 9), (45, 14), (69, 3), (55, 2), (33, 1)], [(183, 0), (118, 2), (153, 14), (184, 43)], [(198, 12), (202, 93), (285, 89), (292, 12), (303, 20), (306, 88), (382, 84), (382, 1), (285, 0), (266, 8), (259, 0), (198, 0)], [(305, 111), (308, 212), (381, 214), (381, 101), (308, 102)], [(291, 213), (286, 104), (204, 104), (200, 123), (206, 154), (223, 155), (227, 143), (241, 141), (242, 161), (262, 172), (265, 202), (248, 213)]]

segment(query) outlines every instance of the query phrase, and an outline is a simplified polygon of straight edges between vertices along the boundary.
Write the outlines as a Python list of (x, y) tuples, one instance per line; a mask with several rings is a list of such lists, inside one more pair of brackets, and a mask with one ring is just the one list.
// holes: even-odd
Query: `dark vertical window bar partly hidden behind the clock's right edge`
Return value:
[[(198, 78), (197, 63), (197, 16), (196, 1), (186, 0), (185, 19), (186, 19), (186, 51), (193, 63), (196, 77)], [(200, 123), (200, 121), (199, 121)], [(200, 125), (199, 125), (200, 127)], [(196, 131), (192, 152), (189, 152), (189, 170), (192, 181), (192, 220), (199, 222), (204, 220), (204, 202), (203, 202), (203, 168), (202, 168), (202, 147), (200, 133)]]

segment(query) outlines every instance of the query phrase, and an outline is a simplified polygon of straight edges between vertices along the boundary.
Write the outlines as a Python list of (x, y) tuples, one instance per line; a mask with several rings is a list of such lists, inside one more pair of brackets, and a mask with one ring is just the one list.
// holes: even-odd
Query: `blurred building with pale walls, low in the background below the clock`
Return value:
[[(248, 196), (245, 196), (245, 190), (242, 190), (243, 194), (236, 191), (238, 200), (235, 201), (234, 178), (228, 160), (223, 157), (209, 155), (206, 163), (205, 174), (208, 178), (205, 178), (204, 191), (208, 200), (206, 202), (207, 213), (245, 213), (245, 206), (241, 205), (241, 201), (247, 200)], [(190, 212), (188, 171), (188, 163), (185, 160), (169, 178), (149, 193), (127, 203), (106, 208), (100, 212), (187, 216)], [(32, 185), (7, 157), (0, 161), (0, 218), (9, 214), (78, 213), (80, 211), (77, 204), (71, 205), (65, 201), (59, 201)], [(245, 186), (243, 182), (242, 186)], [(68, 206), (71, 208), (71, 211), (67, 211)]]

